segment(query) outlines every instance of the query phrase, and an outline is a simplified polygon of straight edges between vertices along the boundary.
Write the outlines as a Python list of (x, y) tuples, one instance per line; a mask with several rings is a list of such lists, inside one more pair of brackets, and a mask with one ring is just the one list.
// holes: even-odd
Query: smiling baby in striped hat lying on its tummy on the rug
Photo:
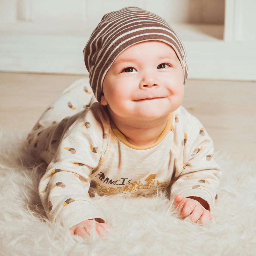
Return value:
[(135, 7), (106, 14), (84, 60), (92, 90), (70, 86), (28, 137), (49, 164), (39, 183), (49, 220), (83, 237), (95, 225), (105, 236), (110, 227), (93, 191), (151, 193), (170, 184), (181, 218), (214, 220), (221, 171), (211, 138), (181, 106), (186, 53), (168, 23)]

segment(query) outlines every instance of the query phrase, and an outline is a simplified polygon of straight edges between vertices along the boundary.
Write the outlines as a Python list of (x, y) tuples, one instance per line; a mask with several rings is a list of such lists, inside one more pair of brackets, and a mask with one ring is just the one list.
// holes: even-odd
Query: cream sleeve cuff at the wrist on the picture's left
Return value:
[(82, 200), (66, 205), (57, 217), (68, 229), (85, 220), (96, 218), (105, 219), (103, 214), (99, 213), (93, 204)]

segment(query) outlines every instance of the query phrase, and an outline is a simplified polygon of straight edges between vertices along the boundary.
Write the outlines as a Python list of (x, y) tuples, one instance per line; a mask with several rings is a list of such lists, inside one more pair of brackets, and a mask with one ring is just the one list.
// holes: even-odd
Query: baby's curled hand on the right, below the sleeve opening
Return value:
[[(206, 203), (203, 199), (201, 200), (203, 201), (202, 204), (204, 204), (204, 202)], [(198, 224), (216, 220), (215, 216), (212, 215), (210, 211), (206, 210), (202, 204), (192, 198), (184, 198), (184, 196), (180, 194), (176, 195), (174, 198), (174, 205), (177, 210), (180, 210), (181, 218), (186, 218), (191, 214), (191, 222), (198, 221)], [(208, 203), (206, 204), (208, 205)]]

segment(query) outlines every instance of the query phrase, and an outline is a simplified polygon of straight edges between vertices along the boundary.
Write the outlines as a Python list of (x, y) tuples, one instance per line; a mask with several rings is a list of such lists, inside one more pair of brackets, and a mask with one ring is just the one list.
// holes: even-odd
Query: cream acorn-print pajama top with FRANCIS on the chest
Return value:
[(89, 196), (91, 189), (101, 195), (148, 193), (166, 188), (171, 180), (171, 199), (197, 196), (210, 208), (214, 205), (221, 171), (213, 142), (182, 106), (170, 113), (157, 141), (145, 147), (130, 144), (98, 102), (62, 122), (56, 154), (39, 183), (49, 220), (58, 217), (69, 228), (92, 218), (104, 220)]

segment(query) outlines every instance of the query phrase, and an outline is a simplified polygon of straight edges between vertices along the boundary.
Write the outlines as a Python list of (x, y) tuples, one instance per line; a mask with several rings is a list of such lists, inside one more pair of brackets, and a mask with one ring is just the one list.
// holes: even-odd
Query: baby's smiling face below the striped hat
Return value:
[(179, 108), (183, 79), (173, 48), (161, 41), (137, 43), (111, 65), (103, 81), (101, 103), (116, 117), (154, 120)]

